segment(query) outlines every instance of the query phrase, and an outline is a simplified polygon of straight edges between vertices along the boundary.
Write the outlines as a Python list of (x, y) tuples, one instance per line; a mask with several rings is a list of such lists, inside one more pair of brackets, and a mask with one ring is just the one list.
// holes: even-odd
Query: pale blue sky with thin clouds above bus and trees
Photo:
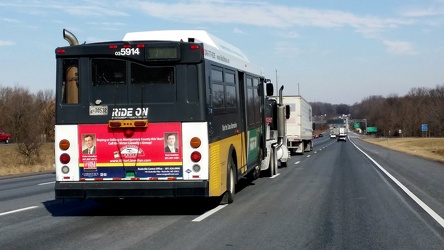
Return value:
[(0, 87), (55, 91), (55, 48), (206, 30), (284, 95), (359, 103), (444, 83), (444, 0), (0, 0)]

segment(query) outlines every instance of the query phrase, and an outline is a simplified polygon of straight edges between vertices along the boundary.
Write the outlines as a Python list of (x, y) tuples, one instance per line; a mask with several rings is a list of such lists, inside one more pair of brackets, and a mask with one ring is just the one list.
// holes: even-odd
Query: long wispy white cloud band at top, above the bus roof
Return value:
[(372, 34), (412, 23), (411, 20), (357, 16), (344, 11), (291, 7), (267, 2), (189, 0), (167, 3), (139, 1), (134, 6), (150, 16), (161, 19), (190, 23), (236, 23), (282, 29), (295, 26), (351, 27), (360, 33)]

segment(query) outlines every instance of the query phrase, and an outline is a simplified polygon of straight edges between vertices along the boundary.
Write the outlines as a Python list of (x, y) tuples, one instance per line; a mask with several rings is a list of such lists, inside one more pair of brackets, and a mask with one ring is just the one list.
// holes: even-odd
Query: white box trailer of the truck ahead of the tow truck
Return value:
[(313, 150), (313, 120), (311, 105), (299, 95), (283, 96), (284, 105), (290, 106), (287, 120), (287, 147), (291, 154), (304, 154)]

